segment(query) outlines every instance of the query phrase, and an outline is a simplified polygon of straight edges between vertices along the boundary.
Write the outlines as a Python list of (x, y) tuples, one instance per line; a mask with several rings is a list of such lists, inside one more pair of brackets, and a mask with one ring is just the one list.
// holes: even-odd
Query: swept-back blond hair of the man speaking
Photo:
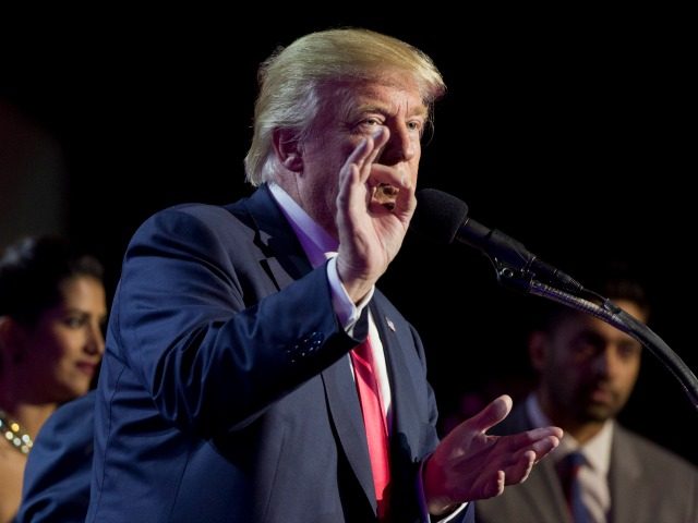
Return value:
[(260, 66), (254, 134), (244, 159), (252, 185), (273, 180), (275, 129), (308, 135), (321, 106), (317, 87), (327, 82), (374, 80), (385, 72), (413, 75), (430, 114), (446, 86), (432, 60), (397, 38), (360, 28), (311, 33), (278, 49)]

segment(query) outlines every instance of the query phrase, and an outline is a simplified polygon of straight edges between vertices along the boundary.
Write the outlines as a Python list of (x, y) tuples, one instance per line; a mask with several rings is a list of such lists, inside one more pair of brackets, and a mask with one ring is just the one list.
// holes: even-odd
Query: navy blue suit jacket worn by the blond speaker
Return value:
[[(370, 306), (393, 397), (392, 510), (416, 522), (435, 402), (414, 329), (380, 292)], [(112, 304), (86, 521), (375, 521), (347, 356), (366, 328), (354, 339), (337, 324), (326, 268), (266, 187), (156, 214)]]

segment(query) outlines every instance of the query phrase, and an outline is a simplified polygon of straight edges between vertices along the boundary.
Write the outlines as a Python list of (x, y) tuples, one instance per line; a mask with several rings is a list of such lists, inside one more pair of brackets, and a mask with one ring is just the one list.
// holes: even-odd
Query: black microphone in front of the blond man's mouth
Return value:
[[(538, 279), (571, 292), (585, 290), (575, 279), (530, 253), (520, 242), (470, 218), (468, 205), (443, 191), (423, 188), (417, 193), (417, 211), (410, 228), (442, 244), (457, 240), (483, 252), (494, 263), (498, 276)], [(502, 266), (503, 270), (500, 270)]]

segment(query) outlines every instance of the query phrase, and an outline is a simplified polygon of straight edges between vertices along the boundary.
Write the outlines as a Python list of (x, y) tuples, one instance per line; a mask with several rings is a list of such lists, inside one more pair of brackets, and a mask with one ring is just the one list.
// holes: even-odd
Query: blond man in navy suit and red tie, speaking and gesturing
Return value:
[[(472, 521), (469, 501), (524, 481), (562, 431), (485, 434), (512, 408), (501, 397), (438, 443), (420, 339), (375, 290), (442, 77), (402, 41), (336, 29), (260, 78), (257, 191), (158, 212), (127, 250), (86, 521)], [(366, 337), (389, 435), (380, 492), (349, 357)]]

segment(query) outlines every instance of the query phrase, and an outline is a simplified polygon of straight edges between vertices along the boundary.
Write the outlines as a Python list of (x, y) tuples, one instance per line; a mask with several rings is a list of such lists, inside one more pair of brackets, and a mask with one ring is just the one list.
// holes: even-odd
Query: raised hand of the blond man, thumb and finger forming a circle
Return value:
[[(354, 301), (369, 292), (397, 255), (417, 206), (407, 168), (376, 162), (389, 134), (378, 127), (364, 138), (339, 173), (337, 270)], [(375, 200), (373, 188), (378, 184), (398, 190), (392, 208)]]

